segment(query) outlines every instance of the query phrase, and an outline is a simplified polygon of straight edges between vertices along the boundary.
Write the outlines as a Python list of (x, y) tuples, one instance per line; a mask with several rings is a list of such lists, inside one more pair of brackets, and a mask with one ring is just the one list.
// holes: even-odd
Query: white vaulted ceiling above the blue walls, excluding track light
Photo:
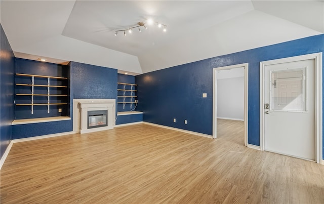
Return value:
[[(1, 1), (16, 57), (131, 74), (324, 33), (324, 1)], [(148, 18), (150, 26), (123, 36)]]

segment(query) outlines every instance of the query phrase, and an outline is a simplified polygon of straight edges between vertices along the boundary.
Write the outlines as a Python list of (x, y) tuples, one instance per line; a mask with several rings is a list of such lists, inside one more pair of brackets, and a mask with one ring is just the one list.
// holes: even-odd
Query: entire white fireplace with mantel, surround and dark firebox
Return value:
[(113, 129), (115, 107), (115, 99), (73, 99), (73, 132)]

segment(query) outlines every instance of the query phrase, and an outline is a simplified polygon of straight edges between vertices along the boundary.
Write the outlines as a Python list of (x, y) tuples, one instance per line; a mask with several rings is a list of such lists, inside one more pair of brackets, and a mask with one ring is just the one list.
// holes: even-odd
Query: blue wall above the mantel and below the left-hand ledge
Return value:
[(117, 70), (70, 62), (71, 120), (13, 126), (13, 139), (69, 132), (73, 130), (73, 99), (116, 99)]

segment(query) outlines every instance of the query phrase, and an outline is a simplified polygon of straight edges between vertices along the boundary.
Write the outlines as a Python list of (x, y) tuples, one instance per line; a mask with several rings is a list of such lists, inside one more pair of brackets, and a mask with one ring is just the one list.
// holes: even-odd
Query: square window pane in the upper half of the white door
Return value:
[(306, 111), (305, 68), (271, 72), (271, 110)]

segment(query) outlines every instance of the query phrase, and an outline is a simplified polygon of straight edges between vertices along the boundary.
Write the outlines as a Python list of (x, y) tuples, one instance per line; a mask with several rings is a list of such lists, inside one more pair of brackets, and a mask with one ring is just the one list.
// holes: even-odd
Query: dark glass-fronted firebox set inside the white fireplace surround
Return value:
[(88, 111), (88, 129), (108, 126), (107, 110)]

